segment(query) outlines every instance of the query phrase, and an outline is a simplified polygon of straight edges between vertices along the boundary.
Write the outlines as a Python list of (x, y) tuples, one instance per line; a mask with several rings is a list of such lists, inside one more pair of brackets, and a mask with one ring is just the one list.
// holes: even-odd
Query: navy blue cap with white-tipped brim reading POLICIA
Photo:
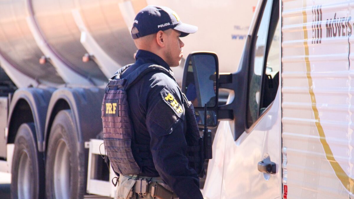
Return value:
[(198, 30), (194, 25), (182, 23), (176, 12), (170, 8), (150, 5), (136, 15), (131, 34), (133, 39), (137, 39), (170, 28), (181, 32), (181, 37)]

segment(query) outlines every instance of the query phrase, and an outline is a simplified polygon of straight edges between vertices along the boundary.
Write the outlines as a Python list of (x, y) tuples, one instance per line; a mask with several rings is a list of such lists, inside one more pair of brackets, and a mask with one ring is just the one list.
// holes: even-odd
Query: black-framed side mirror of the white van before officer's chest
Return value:
[(192, 52), (184, 64), (182, 92), (192, 102), (197, 122), (205, 124), (204, 104), (207, 107), (206, 123), (217, 126), (218, 113), (218, 57), (214, 52)]

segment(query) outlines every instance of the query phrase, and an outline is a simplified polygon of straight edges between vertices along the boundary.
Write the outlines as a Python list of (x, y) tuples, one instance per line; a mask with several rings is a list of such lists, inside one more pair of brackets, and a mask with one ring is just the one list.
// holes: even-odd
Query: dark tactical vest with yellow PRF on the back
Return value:
[[(136, 175), (142, 166), (154, 166), (150, 146), (135, 142), (134, 129), (129, 116), (127, 91), (145, 74), (158, 71), (175, 80), (169, 71), (161, 66), (143, 64), (134, 70), (129, 78), (121, 78), (121, 74), (131, 66), (121, 68), (113, 76), (106, 87), (102, 102), (103, 142), (113, 170), (118, 174)], [(175, 80), (176, 81), (176, 80)], [(203, 142), (199, 135), (198, 124), (191, 102), (183, 94), (185, 108), (187, 158), (189, 166), (197, 174), (204, 173)]]

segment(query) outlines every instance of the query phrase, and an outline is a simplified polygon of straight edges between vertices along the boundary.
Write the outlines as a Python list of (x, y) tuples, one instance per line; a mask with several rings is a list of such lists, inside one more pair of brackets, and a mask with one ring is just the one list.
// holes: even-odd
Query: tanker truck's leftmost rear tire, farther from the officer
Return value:
[(11, 168), (11, 196), (44, 198), (44, 159), (38, 152), (33, 123), (22, 124), (16, 134)]

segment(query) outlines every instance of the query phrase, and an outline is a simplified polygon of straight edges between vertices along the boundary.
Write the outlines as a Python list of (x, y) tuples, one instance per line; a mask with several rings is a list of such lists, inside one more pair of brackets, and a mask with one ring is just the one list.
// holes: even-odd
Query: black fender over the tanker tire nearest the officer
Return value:
[[(47, 148), (52, 123), (56, 114), (63, 109), (72, 111), (72, 118), (80, 143), (89, 141), (102, 131), (101, 106), (104, 89), (92, 88), (60, 88), (53, 92), (46, 116), (44, 143), (42, 151)], [(80, 150), (80, 149), (79, 149)]]

